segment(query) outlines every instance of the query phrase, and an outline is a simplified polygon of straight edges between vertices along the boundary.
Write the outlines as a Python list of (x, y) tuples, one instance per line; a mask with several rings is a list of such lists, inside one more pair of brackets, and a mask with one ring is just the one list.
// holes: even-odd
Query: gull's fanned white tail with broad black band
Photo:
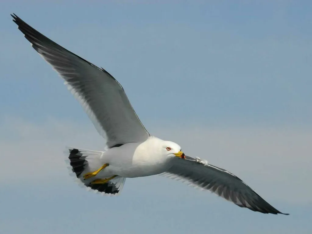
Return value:
[(105, 184), (90, 184), (90, 181), (83, 179), (83, 172), (86, 169), (93, 168), (92, 162), (96, 162), (100, 159), (103, 151), (84, 150), (68, 147), (66, 154), (68, 155), (67, 163), (69, 163), (69, 169), (71, 175), (76, 177), (76, 182), (82, 187), (87, 187), (88, 190), (92, 189), (97, 193), (103, 195), (118, 195), (124, 186), (126, 178), (117, 176), (111, 179)]

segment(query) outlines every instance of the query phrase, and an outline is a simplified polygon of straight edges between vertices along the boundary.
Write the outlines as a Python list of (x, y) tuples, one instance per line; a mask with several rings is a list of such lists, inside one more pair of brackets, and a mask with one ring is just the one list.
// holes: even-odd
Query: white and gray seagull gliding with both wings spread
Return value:
[(32, 47), (65, 80), (106, 140), (104, 151), (67, 148), (71, 174), (80, 185), (112, 196), (120, 193), (126, 178), (160, 174), (209, 190), (239, 207), (288, 215), (231, 172), (187, 156), (177, 143), (151, 135), (110, 73), (51, 41), (17, 15), (11, 16)]

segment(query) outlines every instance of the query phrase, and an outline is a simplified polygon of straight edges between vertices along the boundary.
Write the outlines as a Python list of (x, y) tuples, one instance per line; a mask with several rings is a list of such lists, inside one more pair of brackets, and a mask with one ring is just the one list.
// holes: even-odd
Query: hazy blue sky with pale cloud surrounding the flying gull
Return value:
[[(0, 233), (312, 233), (310, 1), (2, 1)], [(229, 170), (289, 216), (161, 176), (106, 197), (65, 146), (103, 150), (11, 13), (124, 87), (148, 131)]]

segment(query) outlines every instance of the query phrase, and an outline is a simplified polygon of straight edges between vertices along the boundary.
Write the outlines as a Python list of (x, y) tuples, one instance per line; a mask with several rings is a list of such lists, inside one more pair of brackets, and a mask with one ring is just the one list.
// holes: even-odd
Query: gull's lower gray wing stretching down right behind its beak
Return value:
[(272, 207), (234, 174), (199, 158), (189, 156), (186, 156), (185, 160), (175, 158), (174, 165), (161, 175), (210, 190), (240, 207), (261, 213), (284, 214)]

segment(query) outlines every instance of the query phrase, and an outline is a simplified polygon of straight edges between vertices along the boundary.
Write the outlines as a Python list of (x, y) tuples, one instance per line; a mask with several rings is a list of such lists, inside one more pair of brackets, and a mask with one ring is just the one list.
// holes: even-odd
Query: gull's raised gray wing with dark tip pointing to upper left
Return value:
[(32, 47), (65, 80), (97, 131), (107, 139), (108, 147), (148, 138), (124, 89), (112, 75), (51, 41), (15, 14), (12, 17)]

